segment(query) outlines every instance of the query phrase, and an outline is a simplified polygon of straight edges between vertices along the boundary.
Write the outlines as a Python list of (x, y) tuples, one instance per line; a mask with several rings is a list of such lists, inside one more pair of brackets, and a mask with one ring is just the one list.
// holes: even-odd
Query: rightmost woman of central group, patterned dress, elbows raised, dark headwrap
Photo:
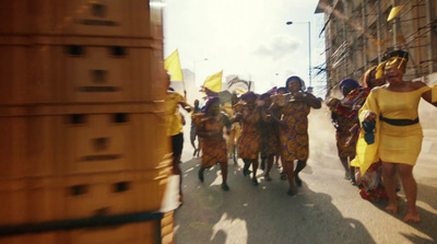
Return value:
[[(283, 147), (284, 167), (287, 174), (290, 196), (296, 195), (297, 186), (302, 186), (298, 173), (307, 165), (308, 160), (308, 114), (310, 108), (320, 108), (321, 102), (305, 91), (305, 83), (299, 77), (291, 77), (286, 80), (287, 94), (284, 94), (274, 104), (272, 111), (280, 111), (281, 118), (281, 143)], [(297, 160), (294, 171), (294, 161)]]

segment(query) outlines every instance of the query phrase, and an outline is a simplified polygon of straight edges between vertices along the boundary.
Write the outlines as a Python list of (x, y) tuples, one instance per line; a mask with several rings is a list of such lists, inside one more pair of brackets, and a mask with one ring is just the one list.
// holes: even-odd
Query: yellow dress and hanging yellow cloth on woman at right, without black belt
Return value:
[(417, 108), (421, 96), (429, 90), (428, 86), (411, 92), (392, 92), (382, 88), (371, 90), (366, 103), (359, 111), (359, 121), (364, 120), (368, 111), (378, 115), (375, 127), (375, 143), (366, 143), (364, 129), (362, 129), (356, 147), (357, 156), (351, 164), (359, 166), (362, 174), (379, 159), (385, 162), (414, 165), (422, 146), (421, 124), (393, 126), (379, 121), (379, 115), (391, 119), (415, 119), (418, 117)]

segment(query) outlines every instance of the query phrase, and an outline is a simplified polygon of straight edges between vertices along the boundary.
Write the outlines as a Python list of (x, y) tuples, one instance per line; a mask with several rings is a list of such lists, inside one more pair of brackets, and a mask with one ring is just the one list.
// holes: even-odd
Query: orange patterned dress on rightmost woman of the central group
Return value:
[(277, 104), (282, 107), (282, 119), (287, 126), (280, 128), (280, 139), (284, 160), (308, 160), (308, 114), (310, 107), (303, 101), (287, 101), (287, 96), (280, 97)]

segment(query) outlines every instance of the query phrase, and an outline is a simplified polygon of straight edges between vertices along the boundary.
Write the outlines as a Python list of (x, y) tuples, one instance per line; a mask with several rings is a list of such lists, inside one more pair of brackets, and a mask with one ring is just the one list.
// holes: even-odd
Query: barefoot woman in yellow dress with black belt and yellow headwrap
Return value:
[[(357, 146), (359, 170), (364, 173), (373, 162), (381, 159), (382, 177), (389, 197), (386, 211), (392, 213), (398, 212), (398, 172), (408, 201), (404, 221), (418, 222), (417, 185), (413, 167), (421, 152), (423, 132), (417, 108), (421, 97), (437, 106), (437, 86), (433, 88), (432, 93), (424, 82), (403, 80), (409, 60), (406, 51), (391, 51), (386, 60), (383, 75), (388, 84), (373, 89), (359, 112), (364, 128)], [(374, 125), (375, 129), (371, 128)]]

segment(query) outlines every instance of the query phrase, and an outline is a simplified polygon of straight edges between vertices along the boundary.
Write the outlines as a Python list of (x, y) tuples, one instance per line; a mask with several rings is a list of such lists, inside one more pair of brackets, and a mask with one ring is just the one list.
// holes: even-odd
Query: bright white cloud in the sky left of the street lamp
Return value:
[(268, 44), (259, 45), (253, 54), (261, 57), (270, 57), (272, 60), (280, 60), (291, 56), (299, 45), (299, 40), (291, 36), (276, 35)]

